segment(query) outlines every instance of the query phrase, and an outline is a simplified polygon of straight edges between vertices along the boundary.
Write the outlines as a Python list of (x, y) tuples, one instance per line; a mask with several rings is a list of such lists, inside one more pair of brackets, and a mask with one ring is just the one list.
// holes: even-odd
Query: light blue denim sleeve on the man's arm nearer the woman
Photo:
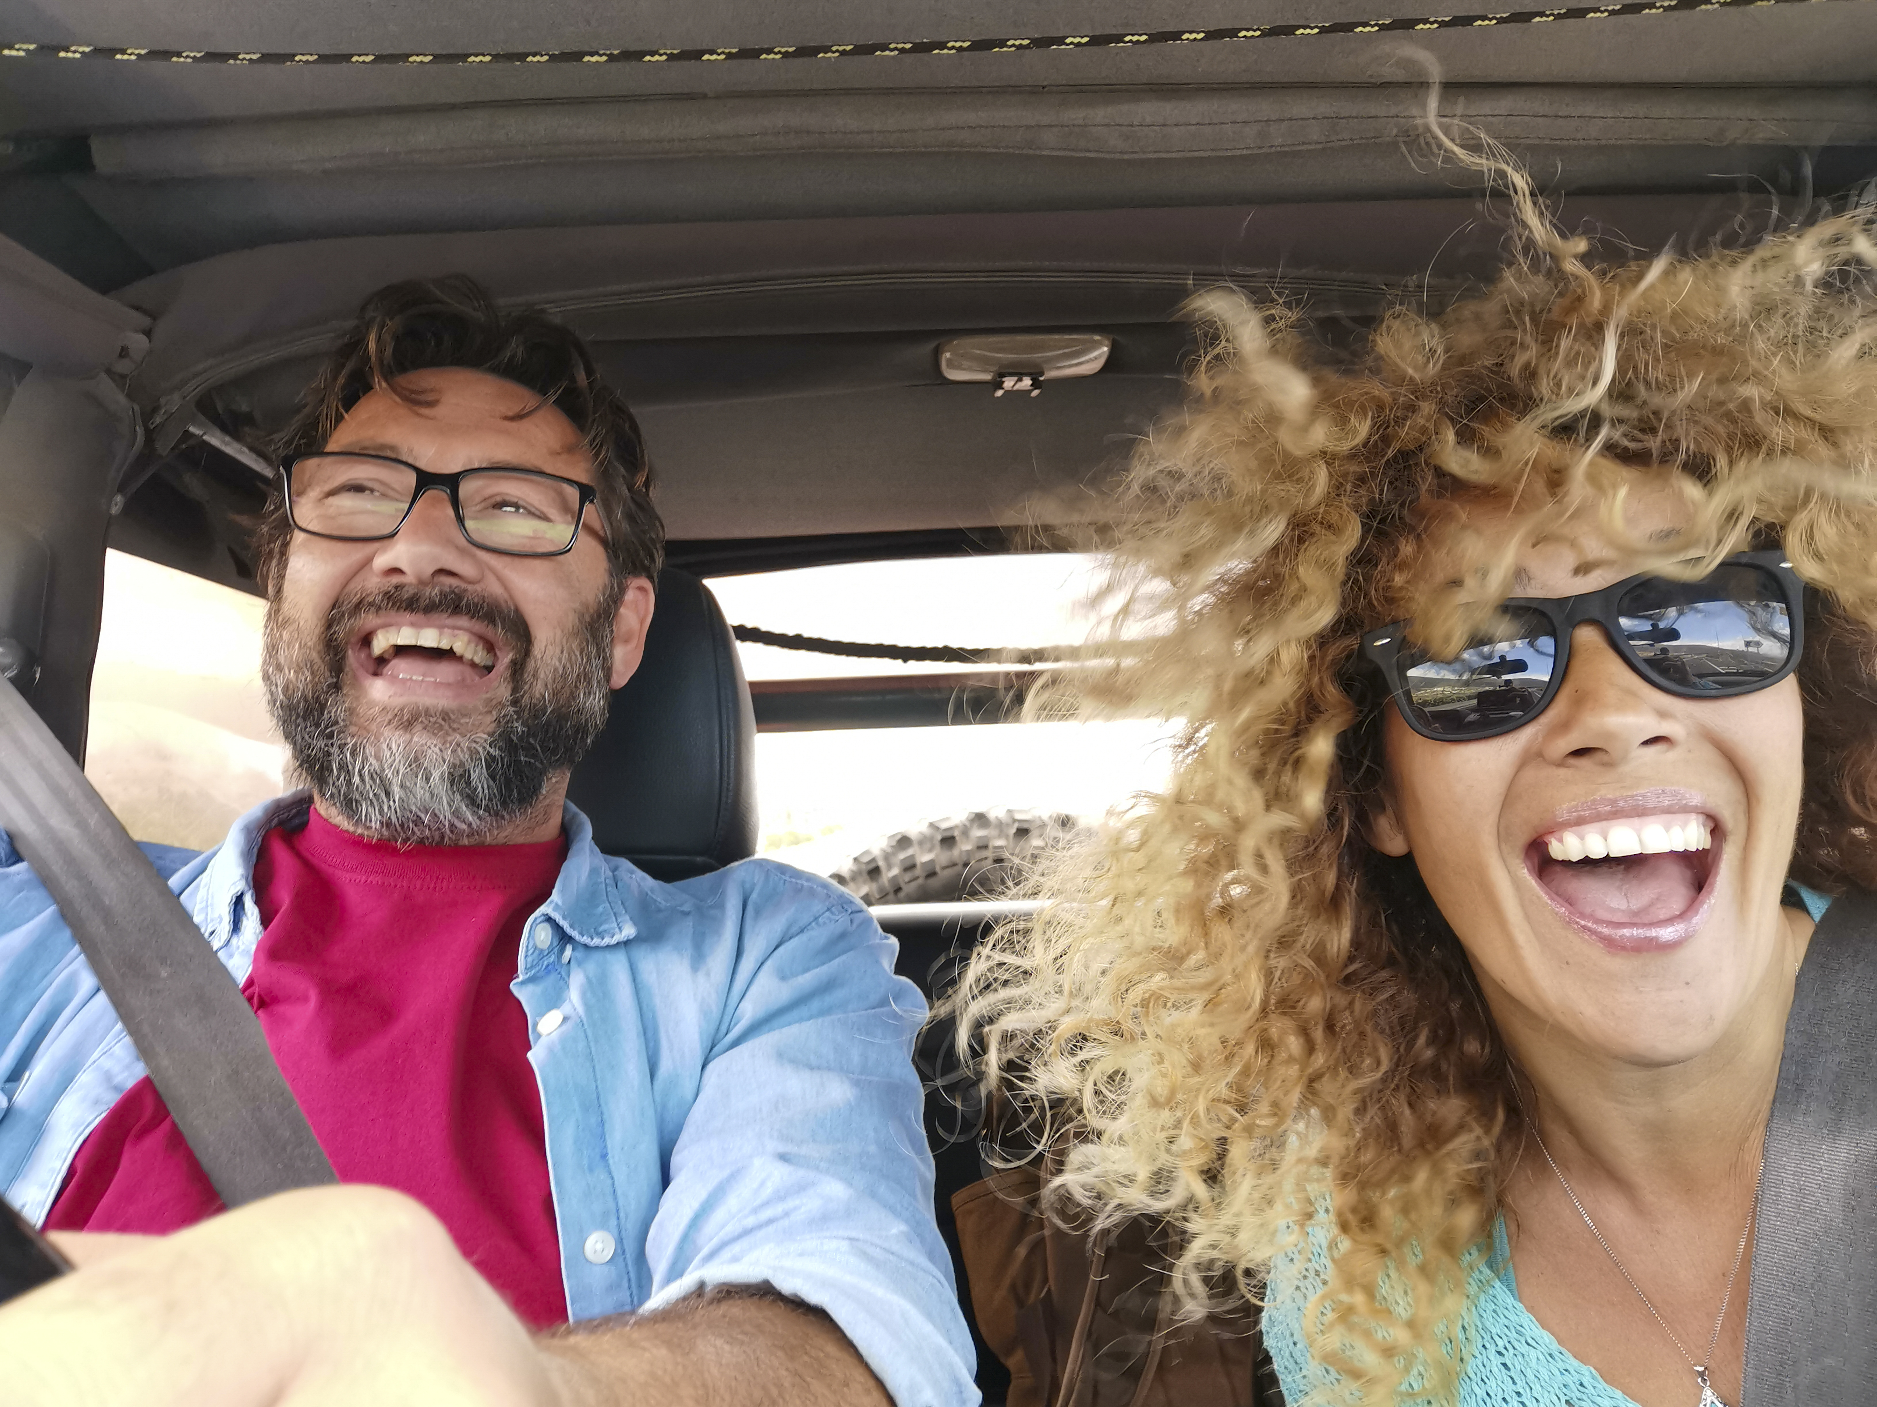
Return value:
[(826, 897), (738, 964), (646, 1244), (644, 1308), (768, 1283), (824, 1309), (899, 1407), (972, 1403), (910, 1060), (925, 1002), (867, 912)]

